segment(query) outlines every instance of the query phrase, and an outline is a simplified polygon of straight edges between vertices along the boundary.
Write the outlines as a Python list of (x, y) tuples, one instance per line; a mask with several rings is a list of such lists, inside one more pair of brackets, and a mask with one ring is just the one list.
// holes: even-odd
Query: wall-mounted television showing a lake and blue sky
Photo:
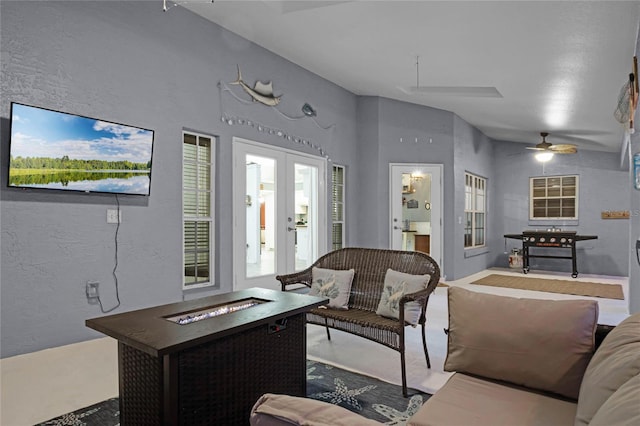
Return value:
[(11, 104), (10, 187), (149, 195), (153, 131)]

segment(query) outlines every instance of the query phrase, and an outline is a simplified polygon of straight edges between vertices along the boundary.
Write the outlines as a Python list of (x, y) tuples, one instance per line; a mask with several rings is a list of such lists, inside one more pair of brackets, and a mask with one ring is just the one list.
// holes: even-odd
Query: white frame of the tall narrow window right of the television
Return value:
[[(208, 161), (201, 161), (200, 158), (200, 150), (196, 148), (196, 159), (195, 161), (193, 160), (187, 160), (185, 158), (185, 144), (186, 144), (186, 138), (187, 137), (195, 137), (196, 141), (197, 141), (197, 146), (199, 146), (201, 139), (204, 140), (209, 140), (210, 141), (210, 145), (209, 145), (209, 159)], [(182, 268), (183, 268), (183, 273), (182, 273), (182, 289), (183, 290), (191, 290), (191, 289), (197, 289), (197, 288), (203, 288), (203, 287), (212, 287), (215, 285), (215, 262), (214, 262), (214, 254), (215, 254), (215, 233), (214, 233), (214, 225), (215, 225), (215, 197), (214, 197), (214, 188), (215, 188), (215, 145), (217, 142), (217, 138), (213, 135), (209, 135), (209, 134), (205, 134), (205, 133), (198, 133), (198, 132), (193, 132), (193, 131), (187, 131), (187, 130), (183, 130), (182, 131), (182, 176), (181, 176), (181, 185), (182, 185)], [(186, 188), (186, 184), (185, 184), (185, 166), (186, 165), (191, 165), (194, 166), (195, 168), (195, 185), (193, 187), (190, 188)], [(203, 183), (203, 180), (200, 177), (200, 170), (202, 168), (207, 168), (209, 169), (209, 176), (208, 176), (208, 184), (206, 184), (206, 180), (205, 182), (205, 186), (202, 187), (200, 186)], [(187, 213), (185, 211), (185, 202), (186, 202), (186, 194), (187, 193), (194, 193), (195, 195), (192, 196), (193, 200), (195, 200), (195, 214), (193, 213)], [(202, 198), (201, 196), (204, 194), (204, 198)], [(208, 214), (201, 214), (200, 213), (200, 207), (199, 207), (199, 203), (200, 202), (205, 202), (208, 203), (209, 208), (208, 208)], [(205, 212), (207, 213), (207, 212)], [(206, 250), (206, 248), (203, 249), (199, 249), (198, 247), (198, 243), (200, 242), (199, 236), (195, 235), (194, 236), (194, 241), (193, 241), (193, 246), (195, 247), (194, 249), (190, 249), (187, 247), (187, 238), (186, 238), (186, 226), (187, 226), (187, 222), (195, 222), (196, 223), (196, 228), (197, 229), (197, 224), (206, 224), (208, 227), (208, 232), (205, 234), (206, 237), (208, 238), (208, 240), (206, 241), (207, 245), (208, 245), (208, 250)], [(206, 250), (206, 251), (205, 251)], [(199, 253), (207, 253), (208, 254), (208, 265), (207, 265), (207, 279), (206, 280), (198, 280), (198, 275), (197, 275), (197, 257)], [(187, 283), (187, 275), (186, 275), (186, 267), (187, 267), (187, 255), (188, 254), (193, 254), (195, 255), (195, 279), (196, 281), (193, 283)]]

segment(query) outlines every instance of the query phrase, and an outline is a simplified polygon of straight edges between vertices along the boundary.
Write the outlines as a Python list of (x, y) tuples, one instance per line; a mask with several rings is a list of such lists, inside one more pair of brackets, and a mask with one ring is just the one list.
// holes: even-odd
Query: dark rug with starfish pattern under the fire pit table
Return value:
[[(430, 395), (409, 389), (404, 398), (400, 386), (307, 360), (307, 396), (383, 424), (404, 426)], [(37, 426), (119, 426), (119, 415), (118, 398), (111, 398)]]

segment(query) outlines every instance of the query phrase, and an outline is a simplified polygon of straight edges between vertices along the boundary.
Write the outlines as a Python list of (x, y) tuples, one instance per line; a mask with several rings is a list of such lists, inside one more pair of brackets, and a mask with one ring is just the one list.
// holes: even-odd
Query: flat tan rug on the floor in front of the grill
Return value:
[(624, 300), (624, 294), (620, 284), (602, 284), (575, 280), (553, 280), (547, 278), (525, 278), (499, 274), (488, 275), (472, 282), (471, 284)]

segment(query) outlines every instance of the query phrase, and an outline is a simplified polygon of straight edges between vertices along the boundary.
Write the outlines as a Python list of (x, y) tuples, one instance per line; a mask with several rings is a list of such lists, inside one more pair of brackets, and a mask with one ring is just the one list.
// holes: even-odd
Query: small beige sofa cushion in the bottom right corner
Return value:
[(620, 386), (589, 423), (589, 426), (624, 425), (640, 425), (640, 375)]

